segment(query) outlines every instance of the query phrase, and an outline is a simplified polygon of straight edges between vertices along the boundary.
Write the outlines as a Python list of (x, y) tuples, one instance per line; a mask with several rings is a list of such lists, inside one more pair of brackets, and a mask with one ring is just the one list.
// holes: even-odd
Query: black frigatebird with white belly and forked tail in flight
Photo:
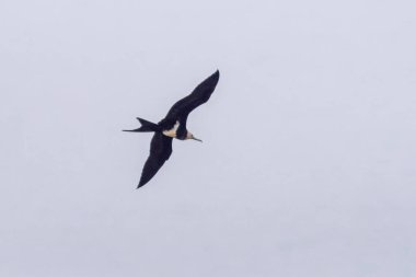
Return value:
[(124, 130), (138, 132), (154, 131), (152, 141), (150, 142), (150, 155), (145, 163), (137, 188), (146, 185), (171, 157), (173, 138), (201, 141), (186, 129), (186, 119), (192, 111), (209, 100), (217, 86), (219, 77), (220, 72), (217, 70), (198, 84), (189, 95), (177, 101), (171, 109), (169, 109), (167, 115), (158, 124), (137, 117), (141, 127), (134, 130)]

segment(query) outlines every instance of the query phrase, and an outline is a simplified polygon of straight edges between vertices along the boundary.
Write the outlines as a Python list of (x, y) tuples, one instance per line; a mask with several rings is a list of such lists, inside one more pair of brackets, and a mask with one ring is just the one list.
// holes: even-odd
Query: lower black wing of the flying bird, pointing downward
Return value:
[(145, 163), (141, 172), (140, 183), (137, 188), (146, 185), (162, 168), (163, 163), (172, 154), (172, 138), (164, 136), (162, 132), (154, 132), (150, 142), (150, 155)]

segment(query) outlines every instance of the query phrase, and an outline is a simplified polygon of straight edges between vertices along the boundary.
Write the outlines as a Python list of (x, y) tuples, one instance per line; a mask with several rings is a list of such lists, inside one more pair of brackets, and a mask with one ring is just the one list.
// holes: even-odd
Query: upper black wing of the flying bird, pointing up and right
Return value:
[(198, 84), (189, 95), (177, 101), (167, 112), (167, 115), (163, 120), (171, 123), (180, 120), (181, 125), (186, 125), (188, 114), (209, 100), (217, 86), (219, 78), (220, 72), (217, 70), (213, 74)]

